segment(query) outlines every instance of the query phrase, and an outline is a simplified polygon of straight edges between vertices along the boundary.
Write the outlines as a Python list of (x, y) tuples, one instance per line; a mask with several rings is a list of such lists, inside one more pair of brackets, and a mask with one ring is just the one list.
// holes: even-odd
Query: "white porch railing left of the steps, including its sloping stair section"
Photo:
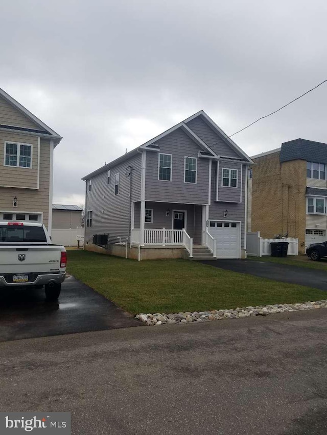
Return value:
[[(132, 229), (131, 243), (141, 244), (141, 229)], [(184, 246), (184, 248), (188, 250), (190, 257), (193, 257), (193, 239), (186, 233), (185, 229), (147, 228), (144, 230), (144, 244)]]

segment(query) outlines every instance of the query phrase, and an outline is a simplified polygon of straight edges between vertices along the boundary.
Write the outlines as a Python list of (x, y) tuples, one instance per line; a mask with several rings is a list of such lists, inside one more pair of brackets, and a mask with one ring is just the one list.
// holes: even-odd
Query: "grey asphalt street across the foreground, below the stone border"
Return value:
[(327, 309), (0, 343), (0, 409), (73, 434), (325, 435)]

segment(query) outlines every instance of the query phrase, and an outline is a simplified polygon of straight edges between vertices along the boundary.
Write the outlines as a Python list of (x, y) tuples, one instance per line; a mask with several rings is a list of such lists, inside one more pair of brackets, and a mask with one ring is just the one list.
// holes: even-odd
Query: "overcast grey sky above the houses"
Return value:
[[(54, 202), (203, 109), (228, 135), (327, 78), (325, 0), (3, 2), (0, 87), (63, 136)], [(233, 140), (327, 142), (327, 83)]]

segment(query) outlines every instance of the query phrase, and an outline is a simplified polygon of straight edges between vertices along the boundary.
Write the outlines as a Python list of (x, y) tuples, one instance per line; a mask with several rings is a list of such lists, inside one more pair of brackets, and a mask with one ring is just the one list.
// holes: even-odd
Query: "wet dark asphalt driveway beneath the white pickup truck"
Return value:
[(73, 277), (66, 278), (58, 302), (44, 290), (0, 292), (0, 341), (142, 325)]

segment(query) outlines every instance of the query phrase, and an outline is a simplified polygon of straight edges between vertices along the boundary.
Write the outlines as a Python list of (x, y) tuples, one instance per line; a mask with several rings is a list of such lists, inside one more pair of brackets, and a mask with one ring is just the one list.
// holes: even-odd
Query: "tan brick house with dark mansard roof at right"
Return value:
[(327, 239), (327, 144), (305, 139), (253, 156), (249, 170), (248, 231), (299, 239), (299, 252)]

